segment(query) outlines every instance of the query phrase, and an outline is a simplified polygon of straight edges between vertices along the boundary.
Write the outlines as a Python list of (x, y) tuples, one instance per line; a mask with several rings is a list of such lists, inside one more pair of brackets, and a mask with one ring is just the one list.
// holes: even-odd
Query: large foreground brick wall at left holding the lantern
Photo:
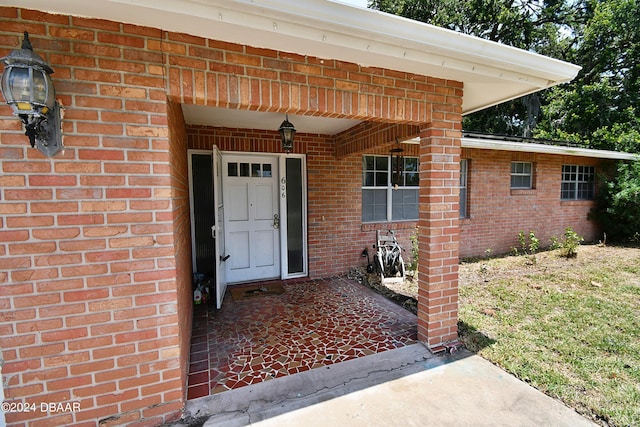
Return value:
[(0, 107), (3, 379), (7, 400), (81, 410), (37, 406), (7, 421), (179, 417), (189, 338), (180, 336), (178, 287), (190, 255), (175, 243), (188, 236), (186, 148), (169, 144), (162, 56), (148, 49), (161, 33), (0, 8), (0, 56), (24, 30), (55, 70), (66, 150), (48, 159), (27, 148), (21, 124)]

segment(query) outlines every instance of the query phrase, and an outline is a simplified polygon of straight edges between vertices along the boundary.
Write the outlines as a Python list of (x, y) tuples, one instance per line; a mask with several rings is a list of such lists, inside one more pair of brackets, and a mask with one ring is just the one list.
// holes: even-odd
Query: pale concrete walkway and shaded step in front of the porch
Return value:
[(421, 344), (191, 400), (185, 415), (205, 427), (596, 425), (479, 356)]

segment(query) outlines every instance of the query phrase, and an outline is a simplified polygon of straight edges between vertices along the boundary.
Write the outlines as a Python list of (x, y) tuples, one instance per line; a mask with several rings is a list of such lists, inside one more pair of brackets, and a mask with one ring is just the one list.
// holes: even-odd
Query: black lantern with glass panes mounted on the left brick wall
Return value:
[(52, 157), (63, 149), (60, 104), (49, 76), (51, 67), (33, 52), (29, 34), (24, 32), (22, 49), (4, 58), (2, 94), (25, 126), (32, 147)]

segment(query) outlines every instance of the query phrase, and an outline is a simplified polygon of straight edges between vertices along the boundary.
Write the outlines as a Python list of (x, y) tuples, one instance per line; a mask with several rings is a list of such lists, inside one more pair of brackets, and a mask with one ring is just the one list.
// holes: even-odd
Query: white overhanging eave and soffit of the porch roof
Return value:
[(572, 80), (580, 67), (331, 0), (0, 0), (464, 83), (465, 114)]

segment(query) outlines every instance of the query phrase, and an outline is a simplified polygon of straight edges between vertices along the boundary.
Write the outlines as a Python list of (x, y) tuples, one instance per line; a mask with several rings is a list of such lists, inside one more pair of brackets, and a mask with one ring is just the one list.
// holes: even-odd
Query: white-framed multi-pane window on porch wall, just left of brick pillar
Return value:
[[(393, 163), (396, 158), (394, 157)], [(405, 157), (398, 168), (389, 156), (362, 159), (362, 222), (418, 219), (418, 158)], [(396, 185), (394, 175), (399, 171)]]

